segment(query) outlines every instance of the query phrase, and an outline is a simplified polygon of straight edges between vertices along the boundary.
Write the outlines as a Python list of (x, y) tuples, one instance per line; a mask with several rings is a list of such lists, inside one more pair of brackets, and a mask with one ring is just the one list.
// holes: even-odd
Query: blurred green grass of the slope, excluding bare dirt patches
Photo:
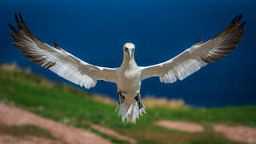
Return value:
[[(82, 90), (49, 83), (34, 74), (10, 72), (2, 68), (0, 100), (6, 103), (14, 102), (25, 110), (71, 126), (92, 130), (90, 123), (94, 122), (133, 137), (139, 143), (238, 143), (227, 140), (222, 134), (214, 133), (212, 123), (256, 126), (256, 106), (175, 110), (154, 108), (148, 109), (148, 114), (140, 118), (136, 125), (132, 125), (117, 117), (114, 105), (96, 102), (90, 94)], [(153, 123), (158, 119), (197, 122), (206, 130), (204, 133), (194, 134), (166, 130), (154, 126)], [(93, 131), (100, 134), (96, 130)], [(105, 134), (100, 135), (114, 143), (126, 143)]]

